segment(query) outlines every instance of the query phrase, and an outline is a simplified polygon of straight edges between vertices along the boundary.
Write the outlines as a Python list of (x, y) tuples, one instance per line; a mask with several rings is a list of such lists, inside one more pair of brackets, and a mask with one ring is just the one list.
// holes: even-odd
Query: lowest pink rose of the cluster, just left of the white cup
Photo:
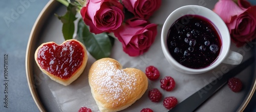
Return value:
[(131, 18), (124, 26), (114, 32), (123, 45), (123, 51), (130, 56), (147, 52), (157, 35), (157, 25), (146, 20)]

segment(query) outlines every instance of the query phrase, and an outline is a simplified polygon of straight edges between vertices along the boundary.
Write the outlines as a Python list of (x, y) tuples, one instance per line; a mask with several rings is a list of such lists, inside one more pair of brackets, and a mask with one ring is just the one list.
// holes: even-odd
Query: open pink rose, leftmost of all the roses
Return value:
[(95, 34), (118, 29), (124, 19), (123, 6), (117, 0), (88, 0), (80, 13)]

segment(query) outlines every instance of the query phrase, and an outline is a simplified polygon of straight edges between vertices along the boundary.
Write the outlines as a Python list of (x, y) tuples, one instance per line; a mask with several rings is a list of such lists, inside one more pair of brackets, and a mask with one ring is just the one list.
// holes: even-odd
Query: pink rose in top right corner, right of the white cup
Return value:
[(226, 23), (231, 40), (238, 47), (256, 38), (256, 6), (245, 0), (220, 0), (216, 3), (216, 12)]

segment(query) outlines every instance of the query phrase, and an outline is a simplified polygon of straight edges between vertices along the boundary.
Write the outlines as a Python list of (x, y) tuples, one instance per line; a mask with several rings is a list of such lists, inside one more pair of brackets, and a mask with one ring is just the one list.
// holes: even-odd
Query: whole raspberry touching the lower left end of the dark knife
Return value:
[(163, 100), (163, 106), (167, 109), (172, 109), (177, 105), (178, 101), (175, 97), (166, 97)]

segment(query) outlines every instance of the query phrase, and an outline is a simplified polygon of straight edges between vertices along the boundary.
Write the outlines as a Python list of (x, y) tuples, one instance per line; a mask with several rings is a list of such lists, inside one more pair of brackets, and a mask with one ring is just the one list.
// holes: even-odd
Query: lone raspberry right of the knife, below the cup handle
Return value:
[(238, 78), (230, 78), (228, 80), (228, 86), (233, 92), (240, 92), (243, 86), (243, 83)]

